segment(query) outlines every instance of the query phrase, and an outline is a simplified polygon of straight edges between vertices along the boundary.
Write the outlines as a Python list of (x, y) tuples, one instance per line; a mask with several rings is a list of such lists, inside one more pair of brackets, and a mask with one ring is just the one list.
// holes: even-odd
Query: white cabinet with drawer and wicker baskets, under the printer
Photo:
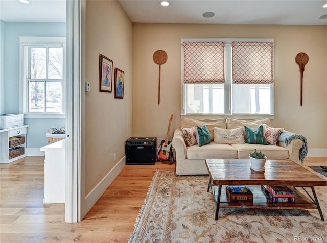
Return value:
[(0, 129), (0, 163), (10, 163), (27, 156), (26, 134), (28, 126)]

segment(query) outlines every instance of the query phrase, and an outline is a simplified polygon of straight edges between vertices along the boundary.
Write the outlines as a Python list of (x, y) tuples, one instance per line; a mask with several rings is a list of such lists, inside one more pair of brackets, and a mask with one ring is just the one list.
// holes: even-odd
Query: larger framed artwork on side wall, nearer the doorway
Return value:
[(99, 56), (99, 92), (111, 93), (113, 62), (100, 54)]

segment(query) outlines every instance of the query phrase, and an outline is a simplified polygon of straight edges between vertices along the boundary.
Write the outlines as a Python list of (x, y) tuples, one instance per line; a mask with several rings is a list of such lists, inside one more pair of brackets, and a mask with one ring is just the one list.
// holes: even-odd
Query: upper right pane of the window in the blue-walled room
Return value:
[(62, 48), (49, 48), (48, 78), (62, 79)]

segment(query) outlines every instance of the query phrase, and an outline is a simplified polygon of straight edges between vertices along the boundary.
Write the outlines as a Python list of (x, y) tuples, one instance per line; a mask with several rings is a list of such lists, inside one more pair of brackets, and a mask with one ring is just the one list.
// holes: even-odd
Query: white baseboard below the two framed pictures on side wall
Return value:
[(125, 167), (124, 156), (116, 165), (111, 169), (111, 171), (92, 189), (88, 195), (85, 196), (85, 212), (81, 212), (81, 218), (83, 218), (86, 213), (93, 207), (93, 205), (99, 200), (103, 192), (108, 188), (108, 186), (113, 182), (113, 180), (118, 176), (118, 174)]

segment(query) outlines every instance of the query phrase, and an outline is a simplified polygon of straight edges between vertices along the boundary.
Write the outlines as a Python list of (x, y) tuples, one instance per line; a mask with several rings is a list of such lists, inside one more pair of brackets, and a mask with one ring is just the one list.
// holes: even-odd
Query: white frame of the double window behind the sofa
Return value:
[[(224, 114), (186, 114), (186, 96), (185, 84), (183, 82), (184, 53), (183, 42), (224, 42), (225, 43), (225, 83), (224, 83)], [(270, 38), (182, 38), (181, 39), (181, 118), (239, 118), (239, 119), (256, 119), (256, 118), (274, 118), (274, 85), (270, 93), (272, 114), (231, 114), (231, 85), (232, 85), (232, 60), (231, 60), (231, 42), (271, 42), (274, 45), (274, 39)], [(274, 66), (274, 65), (273, 65)]]

